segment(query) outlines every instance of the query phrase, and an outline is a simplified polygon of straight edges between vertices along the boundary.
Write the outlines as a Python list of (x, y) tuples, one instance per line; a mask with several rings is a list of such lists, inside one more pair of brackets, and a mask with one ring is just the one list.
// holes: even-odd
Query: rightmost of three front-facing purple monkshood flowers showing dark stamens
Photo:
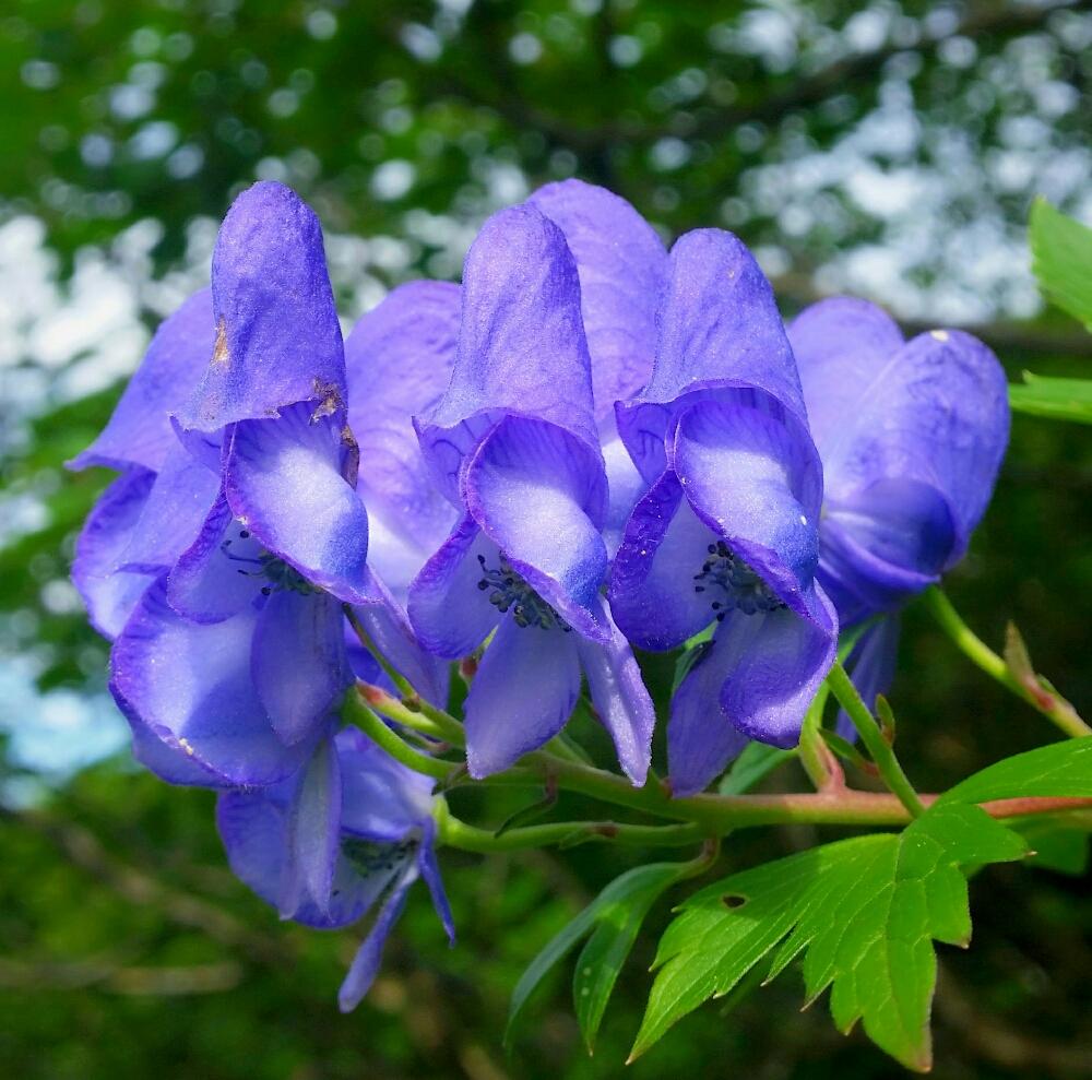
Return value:
[(618, 406), (651, 488), (609, 597), (644, 649), (716, 621), (672, 702), (670, 783), (682, 795), (748, 739), (797, 741), (838, 621), (815, 580), (822, 468), (796, 365), (770, 284), (736, 237), (699, 229), (675, 244), (657, 325), (652, 379)]

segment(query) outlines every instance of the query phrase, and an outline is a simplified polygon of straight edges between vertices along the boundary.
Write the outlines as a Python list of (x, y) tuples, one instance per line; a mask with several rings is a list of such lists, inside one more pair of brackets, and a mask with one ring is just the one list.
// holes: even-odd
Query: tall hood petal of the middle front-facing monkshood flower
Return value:
[(598, 453), (577, 266), (565, 235), (533, 206), (494, 214), (472, 245), (451, 384), (417, 422), (455, 505), (463, 456), (505, 413), (555, 424)]

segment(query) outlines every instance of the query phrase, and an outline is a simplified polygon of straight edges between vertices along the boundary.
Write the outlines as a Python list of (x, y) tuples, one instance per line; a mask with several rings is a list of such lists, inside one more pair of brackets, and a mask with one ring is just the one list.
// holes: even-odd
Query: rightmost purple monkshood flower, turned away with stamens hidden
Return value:
[(788, 327), (824, 495), (819, 580), (843, 626), (886, 615), (852, 657), (867, 702), (894, 672), (894, 613), (963, 557), (1009, 436), (1005, 372), (970, 334), (904, 341), (875, 305), (847, 297)]

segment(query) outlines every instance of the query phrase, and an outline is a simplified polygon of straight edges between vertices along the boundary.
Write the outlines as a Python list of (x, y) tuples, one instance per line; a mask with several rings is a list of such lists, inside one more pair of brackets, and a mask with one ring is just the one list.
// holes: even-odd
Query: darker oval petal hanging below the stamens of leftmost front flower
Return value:
[(277, 738), (312, 735), (349, 685), (341, 605), (323, 593), (278, 589), (266, 601), (250, 670)]

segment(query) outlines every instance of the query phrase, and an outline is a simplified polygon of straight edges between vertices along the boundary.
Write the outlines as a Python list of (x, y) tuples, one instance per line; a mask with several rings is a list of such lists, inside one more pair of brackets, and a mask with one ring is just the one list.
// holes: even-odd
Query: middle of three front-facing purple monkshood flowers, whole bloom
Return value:
[(452, 658), (496, 631), (465, 704), (475, 778), (556, 735), (582, 672), (622, 769), (648, 771), (652, 703), (600, 595), (607, 478), (580, 304), (557, 225), (494, 215), (466, 257), (451, 383), (418, 422), (461, 518), (410, 588), (411, 620)]

